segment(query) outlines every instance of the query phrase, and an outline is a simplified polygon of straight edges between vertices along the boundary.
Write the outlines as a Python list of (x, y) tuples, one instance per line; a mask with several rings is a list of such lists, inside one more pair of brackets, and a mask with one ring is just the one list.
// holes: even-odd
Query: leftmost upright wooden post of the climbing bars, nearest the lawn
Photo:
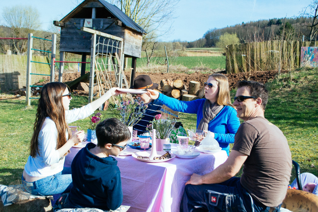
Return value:
[(26, 96), (25, 96), (25, 104), (26, 105), (31, 105), (31, 72), (32, 72), (32, 45), (33, 45), (33, 34), (29, 33), (28, 34), (28, 57), (27, 57), (27, 63), (26, 63)]

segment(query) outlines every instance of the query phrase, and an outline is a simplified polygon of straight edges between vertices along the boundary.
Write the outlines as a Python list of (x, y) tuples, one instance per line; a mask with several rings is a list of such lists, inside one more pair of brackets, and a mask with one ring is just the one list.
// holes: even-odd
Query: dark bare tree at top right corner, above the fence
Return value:
[(311, 41), (313, 37), (317, 34), (318, 32), (318, 0), (313, 0), (311, 4), (309, 4), (306, 8), (304, 8), (301, 11), (300, 14), (301, 17), (310, 17), (309, 22), (306, 23), (305, 25), (310, 28), (309, 32), (309, 40)]

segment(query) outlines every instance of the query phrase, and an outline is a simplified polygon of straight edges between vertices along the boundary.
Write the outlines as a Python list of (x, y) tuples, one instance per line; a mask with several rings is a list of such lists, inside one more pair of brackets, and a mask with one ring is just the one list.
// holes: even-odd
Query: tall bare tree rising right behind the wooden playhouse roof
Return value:
[[(160, 37), (171, 32), (176, 5), (180, 0), (112, 0), (129, 18), (148, 34), (143, 36), (142, 50), (146, 52), (147, 65)], [(149, 52), (150, 51), (150, 52)]]

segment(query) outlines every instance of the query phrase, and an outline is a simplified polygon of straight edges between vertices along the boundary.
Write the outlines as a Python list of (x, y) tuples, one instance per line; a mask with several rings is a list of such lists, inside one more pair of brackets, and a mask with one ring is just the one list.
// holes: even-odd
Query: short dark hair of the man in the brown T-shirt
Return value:
[(262, 99), (261, 106), (263, 110), (265, 110), (267, 100), (268, 100), (268, 90), (265, 88), (265, 85), (260, 82), (247, 81), (247, 80), (238, 81), (236, 83), (237, 88), (241, 88), (245, 86), (247, 87), (251, 96), (256, 96)]

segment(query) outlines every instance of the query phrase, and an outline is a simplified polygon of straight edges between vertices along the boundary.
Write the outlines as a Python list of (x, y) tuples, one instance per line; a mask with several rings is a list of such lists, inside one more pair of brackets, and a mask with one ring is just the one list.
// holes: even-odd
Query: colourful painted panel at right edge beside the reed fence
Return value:
[(318, 47), (301, 47), (301, 67), (318, 67)]

